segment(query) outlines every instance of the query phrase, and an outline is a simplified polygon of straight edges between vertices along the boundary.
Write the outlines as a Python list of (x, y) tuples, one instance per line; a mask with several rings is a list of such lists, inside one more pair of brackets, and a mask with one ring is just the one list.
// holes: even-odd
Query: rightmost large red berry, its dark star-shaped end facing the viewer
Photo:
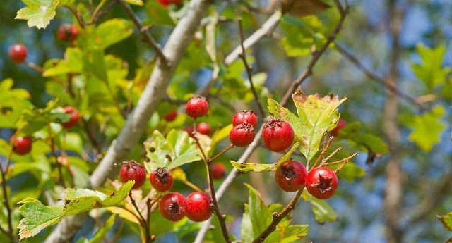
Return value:
[(326, 167), (311, 169), (306, 177), (306, 189), (317, 199), (328, 199), (338, 189), (338, 176)]

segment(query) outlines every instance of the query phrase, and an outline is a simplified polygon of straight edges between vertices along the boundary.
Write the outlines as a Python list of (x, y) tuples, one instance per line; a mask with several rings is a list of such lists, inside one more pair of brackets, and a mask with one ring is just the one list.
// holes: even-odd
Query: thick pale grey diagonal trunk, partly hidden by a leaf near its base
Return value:
[[(136, 145), (141, 135), (143, 135), (150, 116), (152, 116), (165, 95), (162, 90), (166, 90), (169, 85), (169, 80), (174, 75), (174, 70), (184, 55), (186, 47), (193, 38), (209, 4), (210, 1), (208, 0), (191, 0), (186, 15), (179, 20), (179, 23), (177, 23), (169, 36), (167, 44), (162, 49), (162, 53), (166, 56), (168, 63), (163, 63), (160, 58), (157, 59), (153, 73), (150, 75), (148, 84), (143, 94), (141, 94), (136, 108), (129, 114), (119, 136), (112, 142), (107, 154), (105, 154), (99, 166), (91, 175), (90, 187), (102, 186), (107, 178), (112, 175), (113, 171), (116, 171), (114, 170), (114, 163), (123, 161)], [(86, 217), (86, 213), (81, 213), (77, 216), (65, 218), (57, 225), (57, 228), (53, 230), (45, 242), (69, 242), (78, 229), (81, 228)]]

